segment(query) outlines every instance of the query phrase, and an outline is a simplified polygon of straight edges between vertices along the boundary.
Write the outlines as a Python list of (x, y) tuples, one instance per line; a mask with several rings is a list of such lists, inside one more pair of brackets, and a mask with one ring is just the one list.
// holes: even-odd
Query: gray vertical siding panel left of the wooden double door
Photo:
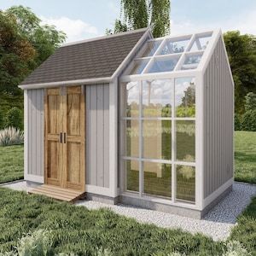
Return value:
[(44, 176), (44, 89), (27, 90), (27, 168)]

